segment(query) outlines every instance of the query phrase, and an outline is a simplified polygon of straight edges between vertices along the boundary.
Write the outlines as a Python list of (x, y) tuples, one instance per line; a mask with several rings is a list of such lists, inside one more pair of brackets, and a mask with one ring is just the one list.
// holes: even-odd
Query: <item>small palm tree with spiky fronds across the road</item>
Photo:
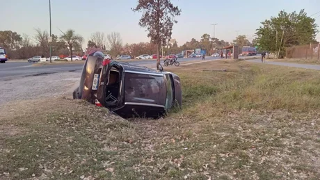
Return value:
[[(61, 31), (61, 33), (63, 33), (63, 31)], [(81, 40), (83, 40), (83, 37), (81, 35), (75, 34), (73, 29), (68, 29), (65, 33), (63, 33), (63, 35), (61, 35), (60, 38), (67, 44), (67, 47), (69, 47), (72, 62), (72, 45), (81, 46)]]

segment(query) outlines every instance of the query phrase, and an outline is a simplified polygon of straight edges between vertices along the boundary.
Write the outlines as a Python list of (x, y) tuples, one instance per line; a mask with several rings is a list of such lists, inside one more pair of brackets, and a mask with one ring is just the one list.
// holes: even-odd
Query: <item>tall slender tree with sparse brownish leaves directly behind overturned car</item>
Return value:
[(170, 40), (173, 24), (177, 23), (175, 17), (180, 15), (181, 10), (173, 6), (170, 0), (138, 0), (138, 5), (132, 10), (143, 12), (138, 24), (147, 28), (147, 37), (157, 45), (157, 69), (159, 69), (159, 49)]

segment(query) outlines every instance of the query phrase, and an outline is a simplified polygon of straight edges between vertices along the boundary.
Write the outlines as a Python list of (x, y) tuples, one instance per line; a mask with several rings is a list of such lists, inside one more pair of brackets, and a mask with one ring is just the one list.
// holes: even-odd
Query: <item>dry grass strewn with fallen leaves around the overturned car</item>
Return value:
[(62, 98), (8, 104), (0, 179), (319, 179), (319, 72), (230, 60), (166, 70), (182, 79), (183, 108), (160, 120)]

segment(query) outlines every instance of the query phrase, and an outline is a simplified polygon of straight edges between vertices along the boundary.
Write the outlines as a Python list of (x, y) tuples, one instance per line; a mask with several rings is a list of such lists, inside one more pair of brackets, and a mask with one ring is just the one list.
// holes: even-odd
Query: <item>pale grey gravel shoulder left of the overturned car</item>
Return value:
[(72, 97), (77, 88), (80, 71), (61, 72), (0, 81), (0, 106), (10, 101), (43, 97)]

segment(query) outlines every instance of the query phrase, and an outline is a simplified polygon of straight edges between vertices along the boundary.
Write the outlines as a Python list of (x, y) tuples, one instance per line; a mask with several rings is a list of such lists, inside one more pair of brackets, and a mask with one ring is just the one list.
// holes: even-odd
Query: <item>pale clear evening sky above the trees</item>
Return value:
[[(288, 13), (305, 9), (307, 15), (320, 11), (319, 0), (171, 0), (182, 12), (173, 26), (172, 38), (179, 45), (191, 38), (200, 40), (208, 33), (232, 42), (238, 35), (253, 40), (255, 30), (265, 19), (277, 16), (280, 10)], [(35, 28), (49, 32), (49, 0), (0, 0), (0, 31), (35, 35)], [(69, 28), (82, 35), (86, 42), (96, 31), (105, 34), (119, 32), (124, 43), (148, 42), (145, 28), (138, 26), (141, 13), (134, 13), (137, 0), (51, 0), (52, 33), (61, 35)], [(4, 10), (4, 12), (3, 12)], [(318, 17), (319, 16), (319, 17)], [(312, 15), (320, 26), (320, 13)], [(320, 30), (320, 28), (319, 28)], [(238, 31), (238, 32), (236, 32)], [(320, 41), (320, 35), (317, 35)]]

